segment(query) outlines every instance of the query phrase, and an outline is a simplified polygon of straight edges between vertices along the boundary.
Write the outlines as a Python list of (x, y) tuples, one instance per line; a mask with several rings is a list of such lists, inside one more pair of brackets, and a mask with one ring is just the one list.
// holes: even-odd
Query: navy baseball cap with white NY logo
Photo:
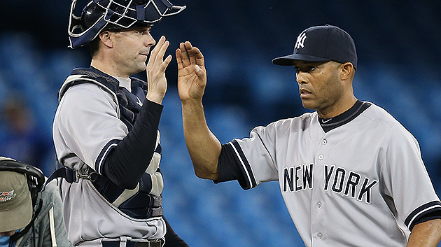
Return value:
[(300, 33), (291, 55), (276, 57), (272, 63), (292, 66), (295, 60), (307, 62), (351, 62), (357, 68), (357, 52), (352, 37), (343, 29), (329, 24), (309, 27)]

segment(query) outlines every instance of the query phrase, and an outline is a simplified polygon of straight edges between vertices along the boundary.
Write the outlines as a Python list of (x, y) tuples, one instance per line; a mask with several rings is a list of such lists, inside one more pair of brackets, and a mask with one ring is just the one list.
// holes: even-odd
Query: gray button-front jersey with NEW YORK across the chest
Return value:
[[(405, 246), (419, 219), (441, 211), (419, 144), (379, 106), (358, 101), (349, 113), (272, 122), (224, 149), (242, 188), (279, 181), (306, 246)], [(232, 178), (223, 159), (216, 182)]]

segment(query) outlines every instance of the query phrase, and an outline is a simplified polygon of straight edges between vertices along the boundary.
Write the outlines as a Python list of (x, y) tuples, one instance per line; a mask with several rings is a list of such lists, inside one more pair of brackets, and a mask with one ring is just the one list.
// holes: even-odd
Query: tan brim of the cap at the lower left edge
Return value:
[(32, 219), (32, 201), (30, 195), (15, 209), (0, 212), (0, 232), (10, 232), (26, 227)]

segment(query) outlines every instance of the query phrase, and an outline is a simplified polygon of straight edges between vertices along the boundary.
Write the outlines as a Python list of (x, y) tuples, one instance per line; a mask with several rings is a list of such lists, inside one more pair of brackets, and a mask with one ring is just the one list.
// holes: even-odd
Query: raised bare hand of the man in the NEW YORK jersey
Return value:
[(207, 85), (207, 70), (204, 55), (189, 41), (180, 43), (176, 49), (178, 62), (178, 90), (182, 101), (202, 101)]

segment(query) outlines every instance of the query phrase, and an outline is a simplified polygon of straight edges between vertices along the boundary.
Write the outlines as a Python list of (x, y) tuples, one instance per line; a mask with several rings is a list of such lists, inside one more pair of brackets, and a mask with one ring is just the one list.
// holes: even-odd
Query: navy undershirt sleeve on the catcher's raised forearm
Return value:
[(104, 160), (102, 173), (116, 185), (137, 187), (155, 151), (162, 108), (146, 99), (132, 130)]

